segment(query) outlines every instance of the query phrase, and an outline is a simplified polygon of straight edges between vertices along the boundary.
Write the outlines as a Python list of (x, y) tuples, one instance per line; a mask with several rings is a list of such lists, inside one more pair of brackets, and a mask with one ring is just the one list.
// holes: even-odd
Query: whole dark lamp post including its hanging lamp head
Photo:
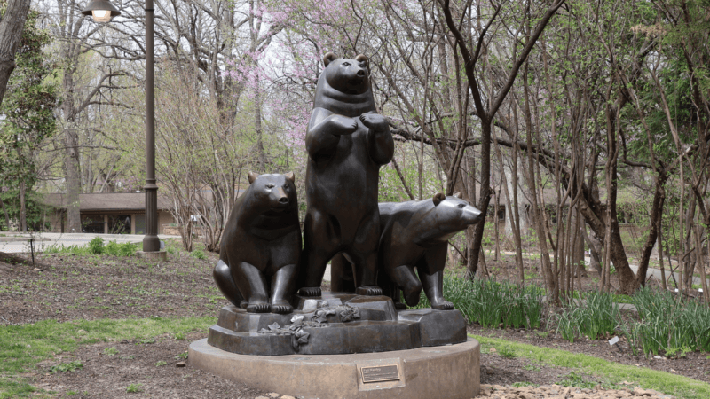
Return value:
[[(155, 184), (155, 59), (153, 31), (153, 0), (146, 0), (146, 236), (143, 253), (149, 257), (164, 257), (158, 239), (158, 186)], [(97, 22), (108, 22), (121, 12), (108, 0), (91, 0), (82, 11)], [(157, 256), (152, 256), (152, 254)]]

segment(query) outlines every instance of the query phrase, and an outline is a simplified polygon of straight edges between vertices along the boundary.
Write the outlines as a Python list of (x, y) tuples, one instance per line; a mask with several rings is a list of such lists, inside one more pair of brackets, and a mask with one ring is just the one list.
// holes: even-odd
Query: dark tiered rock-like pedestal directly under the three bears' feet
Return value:
[(466, 341), (458, 310), (397, 311), (386, 296), (323, 293), (294, 298), (288, 315), (248, 313), (233, 305), (219, 312), (208, 343), (242, 355), (335, 355), (389, 352)]

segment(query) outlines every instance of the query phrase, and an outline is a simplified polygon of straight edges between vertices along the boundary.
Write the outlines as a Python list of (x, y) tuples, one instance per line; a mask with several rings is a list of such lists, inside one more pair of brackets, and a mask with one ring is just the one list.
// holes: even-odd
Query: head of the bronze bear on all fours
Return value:
[(449, 239), (459, 231), (465, 230), (469, 225), (476, 224), (483, 219), (481, 211), (472, 207), (465, 200), (461, 200), (461, 193), (446, 196), (438, 192), (432, 198), (435, 225), (442, 233), (442, 239)]

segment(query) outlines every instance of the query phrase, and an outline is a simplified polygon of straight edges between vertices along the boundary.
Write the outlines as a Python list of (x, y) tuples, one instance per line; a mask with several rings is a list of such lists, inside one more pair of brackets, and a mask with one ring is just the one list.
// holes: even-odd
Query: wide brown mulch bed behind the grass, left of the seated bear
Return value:
[(138, 257), (47, 254), (0, 260), (0, 323), (54, 319), (215, 316), (224, 299), (208, 259), (170, 254), (167, 262)]

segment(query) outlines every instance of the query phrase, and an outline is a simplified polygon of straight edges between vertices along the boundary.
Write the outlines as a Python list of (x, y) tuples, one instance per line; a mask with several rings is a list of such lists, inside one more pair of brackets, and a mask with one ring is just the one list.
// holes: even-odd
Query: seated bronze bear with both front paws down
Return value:
[(301, 256), (294, 174), (256, 175), (235, 202), (213, 277), (234, 306), (254, 313), (290, 313)]

